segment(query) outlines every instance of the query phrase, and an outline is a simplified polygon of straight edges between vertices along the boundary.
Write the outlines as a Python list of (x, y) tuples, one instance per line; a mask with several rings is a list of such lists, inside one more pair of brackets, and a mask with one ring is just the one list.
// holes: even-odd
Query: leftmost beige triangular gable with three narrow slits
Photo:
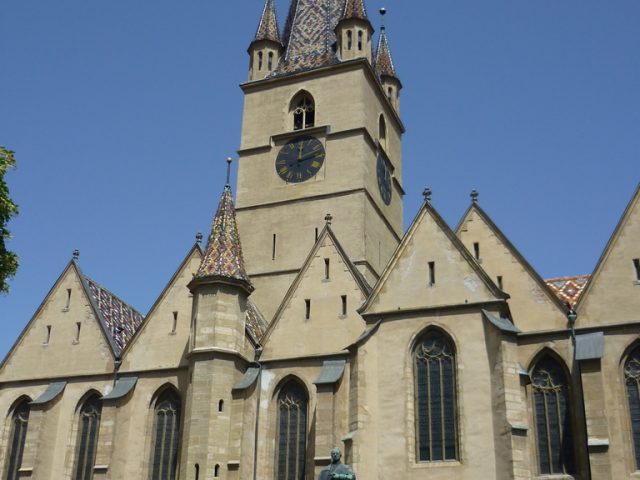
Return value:
[(82, 274), (71, 262), (9, 352), (0, 381), (108, 373), (113, 360)]

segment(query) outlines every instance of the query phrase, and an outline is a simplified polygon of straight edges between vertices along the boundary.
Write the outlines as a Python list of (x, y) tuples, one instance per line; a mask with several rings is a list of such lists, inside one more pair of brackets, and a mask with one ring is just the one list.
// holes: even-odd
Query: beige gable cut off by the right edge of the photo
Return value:
[(578, 325), (640, 321), (640, 186), (578, 301)]

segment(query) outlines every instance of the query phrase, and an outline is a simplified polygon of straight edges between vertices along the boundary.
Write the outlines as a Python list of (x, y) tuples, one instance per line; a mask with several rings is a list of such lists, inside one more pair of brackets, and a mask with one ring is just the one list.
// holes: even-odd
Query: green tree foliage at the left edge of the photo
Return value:
[(9, 187), (5, 180), (8, 170), (15, 168), (16, 161), (11, 150), (0, 145), (0, 292), (9, 291), (8, 280), (18, 269), (18, 256), (7, 250), (6, 241), (9, 240), (7, 224), (18, 213), (18, 206), (9, 197)]

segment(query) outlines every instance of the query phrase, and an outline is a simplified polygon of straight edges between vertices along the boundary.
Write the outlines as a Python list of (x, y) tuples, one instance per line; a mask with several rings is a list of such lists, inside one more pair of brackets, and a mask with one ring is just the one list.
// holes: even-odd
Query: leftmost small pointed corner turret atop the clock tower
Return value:
[(273, 0), (266, 0), (256, 36), (249, 45), (249, 81), (262, 80), (273, 72), (280, 61), (282, 48), (276, 6)]

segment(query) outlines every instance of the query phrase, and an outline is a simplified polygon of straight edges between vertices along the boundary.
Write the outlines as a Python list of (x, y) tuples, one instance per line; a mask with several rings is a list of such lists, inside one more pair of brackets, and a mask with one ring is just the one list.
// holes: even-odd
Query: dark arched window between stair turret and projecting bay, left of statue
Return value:
[(307, 450), (307, 393), (290, 381), (278, 395), (277, 480), (304, 480)]

